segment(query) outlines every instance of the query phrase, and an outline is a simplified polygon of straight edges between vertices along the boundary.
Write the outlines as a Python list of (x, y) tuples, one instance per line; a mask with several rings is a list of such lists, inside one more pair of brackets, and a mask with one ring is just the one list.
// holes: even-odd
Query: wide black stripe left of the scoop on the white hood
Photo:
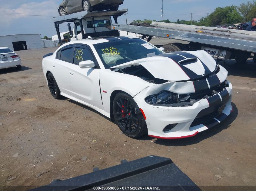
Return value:
[(202, 75), (197, 75), (196, 73), (194, 73), (192, 70), (186, 68), (185, 66), (179, 64), (179, 61), (184, 60), (185, 58), (179, 55), (175, 55), (175, 54), (159, 54), (156, 56), (162, 56), (162, 57), (167, 57), (172, 59), (174, 62), (176, 62), (176, 64), (178, 64), (181, 69), (185, 72), (185, 74), (190, 78), (190, 79), (195, 79), (195, 78), (201, 78)]

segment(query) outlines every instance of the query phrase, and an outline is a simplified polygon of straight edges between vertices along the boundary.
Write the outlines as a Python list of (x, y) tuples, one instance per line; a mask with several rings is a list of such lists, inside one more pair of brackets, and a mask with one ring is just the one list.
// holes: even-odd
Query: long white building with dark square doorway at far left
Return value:
[(6, 46), (14, 51), (42, 48), (40, 34), (11, 34), (0, 36), (0, 47)]

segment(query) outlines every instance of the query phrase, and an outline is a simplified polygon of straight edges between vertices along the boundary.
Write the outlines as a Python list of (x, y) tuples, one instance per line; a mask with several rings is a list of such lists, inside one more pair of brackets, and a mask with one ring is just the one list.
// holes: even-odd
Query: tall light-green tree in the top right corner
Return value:
[(254, 18), (255, 15), (255, 7), (256, 6), (256, 0), (248, 1), (247, 3), (241, 3), (238, 6), (238, 11), (243, 16), (243, 21), (250, 21), (252, 18)]

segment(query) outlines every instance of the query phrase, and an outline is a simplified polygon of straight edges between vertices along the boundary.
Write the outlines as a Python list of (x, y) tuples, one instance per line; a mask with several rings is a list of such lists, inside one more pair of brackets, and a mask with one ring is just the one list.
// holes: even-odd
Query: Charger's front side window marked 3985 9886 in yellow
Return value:
[(74, 52), (74, 60), (73, 63), (79, 65), (79, 62), (91, 60), (95, 62), (95, 59), (91, 53), (91, 50), (86, 46), (76, 46)]

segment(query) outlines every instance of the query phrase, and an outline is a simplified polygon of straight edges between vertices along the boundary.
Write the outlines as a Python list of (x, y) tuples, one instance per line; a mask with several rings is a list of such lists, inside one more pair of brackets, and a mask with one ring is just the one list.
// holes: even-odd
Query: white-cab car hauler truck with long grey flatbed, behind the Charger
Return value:
[[(165, 52), (179, 50), (205, 50), (214, 59), (235, 59), (238, 63), (249, 57), (256, 62), (256, 32), (185, 24), (152, 22), (152, 24), (118, 24), (117, 18), (128, 9), (119, 11), (81, 11), (74, 14), (53, 18), (59, 42), (59, 24), (69, 23), (68, 29), (72, 40), (88, 37), (118, 36), (118, 30), (142, 35), (148, 42), (155, 37), (183, 40), (189, 43), (165, 44)], [(115, 23), (112, 23), (111, 16)], [(73, 31), (70, 23), (74, 24)], [(81, 30), (83, 29), (83, 30)], [(252, 54), (255, 53), (255, 56)]]

